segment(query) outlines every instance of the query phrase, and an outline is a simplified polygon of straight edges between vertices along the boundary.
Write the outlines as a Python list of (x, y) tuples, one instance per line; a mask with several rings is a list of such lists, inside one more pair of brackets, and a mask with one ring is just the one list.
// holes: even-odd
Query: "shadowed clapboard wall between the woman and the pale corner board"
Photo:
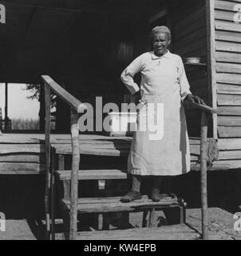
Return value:
[[(173, 1), (173, 3), (176, 1)], [(188, 5), (188, 8), (186, 7)], [(207, 22), (205, 1), (176, 2), (172, 6), (172, 49), (183, 59), (207, 58)], [(185, 66), (192, 94), (199, 95), (207, 102), (207, 72), (205, 68)], [(187, 110), (188, 133), (200, 136), (200, 113)]]

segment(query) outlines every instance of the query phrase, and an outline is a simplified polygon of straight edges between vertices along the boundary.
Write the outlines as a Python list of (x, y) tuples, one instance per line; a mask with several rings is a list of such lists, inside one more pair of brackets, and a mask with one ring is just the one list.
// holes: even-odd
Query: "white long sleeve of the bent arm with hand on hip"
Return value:
[(128, 88), (131, 94), (135, 94), (140, 87), (134, 82), (135, 74), (139, 73), (142, 67), (141, 55), (136, 58), (121, 74), (121, 81)]

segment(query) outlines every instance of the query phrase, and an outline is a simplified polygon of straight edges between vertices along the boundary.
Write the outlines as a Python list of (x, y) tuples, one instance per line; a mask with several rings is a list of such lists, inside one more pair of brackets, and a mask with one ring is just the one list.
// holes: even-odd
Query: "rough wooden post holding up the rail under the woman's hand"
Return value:
[(203, 240), (208, 239), (207, 218), (207, 113), (203, 111), (201, 121), (201, 197), (202, 197), (202, 234)]

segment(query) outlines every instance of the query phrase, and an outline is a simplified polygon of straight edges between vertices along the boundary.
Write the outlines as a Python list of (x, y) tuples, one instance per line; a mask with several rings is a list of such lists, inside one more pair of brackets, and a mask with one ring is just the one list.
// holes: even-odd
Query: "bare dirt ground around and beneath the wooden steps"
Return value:
[[(220, 208), (210, 208), (209, 215), (209, 237), (211, 240), (241, 240), (241, 232), (234, 230), (235, 219), (233, 214)], [(156, 219), (162, 218), (160, 213)], [(130, 222), (139, 226), (140, 218), (132, 215)], [(139, 223), (138, 223), (139, 222)], [(200, 209), (187, 210), (188, 225), (197, 232), (201, 231)], [(44, 239), (44, 222), (33, 220), (6, 220), (6, 232), (0, 231), (0, 240), (41, 240)]]

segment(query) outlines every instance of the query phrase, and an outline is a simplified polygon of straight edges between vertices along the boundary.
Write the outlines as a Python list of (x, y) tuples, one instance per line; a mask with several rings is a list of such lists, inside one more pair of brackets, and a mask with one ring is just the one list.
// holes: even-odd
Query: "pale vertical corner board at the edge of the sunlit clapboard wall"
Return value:
[[(207, 82), (211, 107), (217, 107), (215, 59), (215, 0), (206, 0), (207, 15)], [(217, 114), (212, 114), (213, 138), (218, 138)]]

